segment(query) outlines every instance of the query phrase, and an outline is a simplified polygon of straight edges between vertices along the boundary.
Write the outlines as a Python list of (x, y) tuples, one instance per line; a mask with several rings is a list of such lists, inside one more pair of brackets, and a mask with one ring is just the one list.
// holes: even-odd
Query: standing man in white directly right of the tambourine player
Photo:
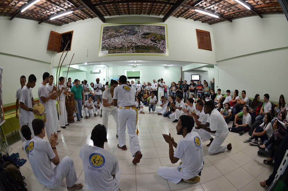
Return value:
[(42, 78), (43, 81), (38, 88), (38, 97), (39, 102), (43, 104), (45, 107), (44, 122), (46, 126), (47, 137), (48, 139), (50, 139), (50, 134), (57, 133), (56, 128), (54, 126), (54, 119), (52, 115), (51, 101), (50, 101), (50, 99), (56, 95), (56, 92), (53, 92), (52, 94), (49, 95), (49, 92), (47, 90), (46, 84), (49, 82), (50, 74), (48, 72), (44, 72)]

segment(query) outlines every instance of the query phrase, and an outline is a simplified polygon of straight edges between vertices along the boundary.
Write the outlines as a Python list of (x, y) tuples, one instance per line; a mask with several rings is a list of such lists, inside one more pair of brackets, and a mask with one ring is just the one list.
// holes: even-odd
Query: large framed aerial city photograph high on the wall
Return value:
[(99, 56), (168, 56), (167, 25), (125, 23), (101, 26)]

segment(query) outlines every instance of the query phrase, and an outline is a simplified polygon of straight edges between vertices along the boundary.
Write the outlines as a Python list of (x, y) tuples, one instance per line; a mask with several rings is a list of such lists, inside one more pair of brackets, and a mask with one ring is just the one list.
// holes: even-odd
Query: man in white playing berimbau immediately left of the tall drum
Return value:
[(56, 88), (57, 88), (58, 93), (59, 93), (59, 97), (58, 97), (59, 121), (60, 121), (60, 127), (63, 129), (65, 129), (66, 124), (68, 124), (67, 111), (66, 111), (66, 107), (65, 107), (65, 94), (67, 94), (68, 90), (64, 86), (64, 83), (65, 83), (65, 78), (63, 76), (61, 76), (59, 78), (59, 83), (56, 85)]

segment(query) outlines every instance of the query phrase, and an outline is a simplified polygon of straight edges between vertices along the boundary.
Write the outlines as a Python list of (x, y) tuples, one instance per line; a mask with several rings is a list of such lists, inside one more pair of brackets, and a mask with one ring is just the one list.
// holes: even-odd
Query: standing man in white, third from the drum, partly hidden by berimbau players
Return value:
[[(54, 91), (56, 91), (56, 86), (53, 85), (53, 81), (54, 81), (54, 77), (53, 75), (50, 75), (49, 83), (46, 86), (49, 95), (52, 94)], [(51, 102), (51, 111), (52, 111), (55, 131), (60, 132), (61, 130), (59, 129), (58, 114), (57, 114), (57, 109), (56, 109), (56, 100), (50, 99), (50, 102)]]

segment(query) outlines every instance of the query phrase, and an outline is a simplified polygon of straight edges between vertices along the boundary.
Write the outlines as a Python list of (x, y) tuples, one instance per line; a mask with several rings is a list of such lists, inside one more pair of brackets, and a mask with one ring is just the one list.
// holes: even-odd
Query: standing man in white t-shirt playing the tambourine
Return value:
[(32, 88), (35, 87), (36, 80), (37, 78), (34, 74), (31, 74), (28, 77), (28, 83), (25, 86), (23, 86), (20, 97), (20, 108), (21, 108), (23, 125), (29, 126), (32, 132), (32, 137), (34, 137), (32, 129), (32, 120), (35, 119), (34, 114), (40, 115), (39, 111), (33, 108), (33, 106), (37, 104), (37, 102), (34, 102), (32, 94)]

